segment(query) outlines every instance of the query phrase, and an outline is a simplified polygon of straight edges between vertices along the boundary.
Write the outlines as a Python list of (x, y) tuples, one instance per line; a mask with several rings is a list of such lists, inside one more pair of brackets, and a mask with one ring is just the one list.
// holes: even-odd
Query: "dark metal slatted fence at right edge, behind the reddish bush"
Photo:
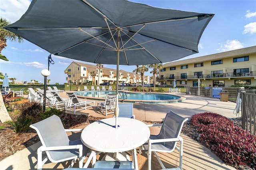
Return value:
[(256, 134), (255, 117), (256, 117), (256, 94), (255, 90), (241, 93), (242, 99), (242, 128), (252, 134)]

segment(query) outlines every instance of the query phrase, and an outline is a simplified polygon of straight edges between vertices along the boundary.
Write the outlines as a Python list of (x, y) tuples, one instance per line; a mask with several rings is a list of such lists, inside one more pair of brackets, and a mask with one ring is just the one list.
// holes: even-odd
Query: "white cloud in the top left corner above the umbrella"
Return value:
[(26, 12), (30, 5), (30, 0), (1, 0), (1, 17), (16, 22)]

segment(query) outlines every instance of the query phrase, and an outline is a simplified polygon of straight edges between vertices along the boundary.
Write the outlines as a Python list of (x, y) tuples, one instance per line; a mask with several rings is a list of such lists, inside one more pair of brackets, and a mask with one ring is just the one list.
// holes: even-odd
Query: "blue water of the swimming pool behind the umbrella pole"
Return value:
[[(116, 91), (77, 91), (74, 93), (76, 93), (76, 95), (79, 95), (79, 96), (97, 97), (97, 98), (105, 99), (107, 94), (114, 94), (116, 93)], [(119, 94), (119, 99), (120, 98), (125, 99), (127, 101), (129, 100), (144, 101), (144, 103), (146, 101), (166, 101), (166, 100), (180, 99), (180, 97), (176, 95), (167, 95), (167, 94), (158, 94), (158, 93), (127, 93), (122, 91), (120, 91), (120, 94)], [(158, 102), (154, 102), (154, 103), (158, 103)]]

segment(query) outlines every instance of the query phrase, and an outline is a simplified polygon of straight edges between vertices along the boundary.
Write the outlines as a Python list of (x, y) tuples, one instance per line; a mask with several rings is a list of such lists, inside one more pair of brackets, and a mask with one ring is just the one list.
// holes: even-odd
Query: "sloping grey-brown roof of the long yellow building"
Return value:
[(194, 58), (184, 59), (184, 60), (180, 60), (180, 61), (173, 61), (173, 62), (164, 64), (163, 67), (183, 65), (183, 64), (188, 64), (188, 63), (200, 63), (202, 61), (213, 61), (216, 59), (222, 59), (222, 58), (227, 58), (227, 57), (234, 57), (234, 56), (239, 56), (239, 55), (249, 55), (251, 53), (256, 53), (256, 46), (235, 49), (232, 51), (226, 51), (226, 52), (222, 52), (222, 53), (205, 55), (202, 57), (194, 57)]

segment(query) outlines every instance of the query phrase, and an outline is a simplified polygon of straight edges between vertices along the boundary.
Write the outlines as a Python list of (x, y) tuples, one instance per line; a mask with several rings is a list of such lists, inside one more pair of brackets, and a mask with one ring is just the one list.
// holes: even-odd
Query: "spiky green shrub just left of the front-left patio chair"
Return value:
[(22, 118), (17, 118), (17, 121), (8, 121), (7, 123), (12, 125), (14, 131), (19, 136), (24, 134), (28, 130), (29, 126), (32, 124), (33, 119), (30, 116), (25, 116)]

